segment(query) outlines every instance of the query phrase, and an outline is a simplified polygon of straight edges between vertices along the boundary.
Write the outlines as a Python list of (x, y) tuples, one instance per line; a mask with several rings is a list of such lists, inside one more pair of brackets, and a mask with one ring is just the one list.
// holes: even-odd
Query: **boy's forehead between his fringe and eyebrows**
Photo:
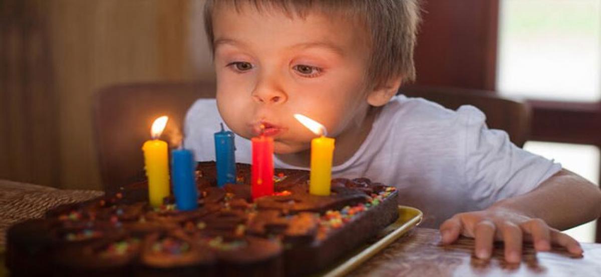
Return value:
[[(336, 53), (347, 47), (359, 47), (368, 41), (362, 24), (349, 18), (329, 16), (320, 11), (291, 14), (275, 8), (258, 9), (252, 5), (220, 5), (213, 10), (213, 45), (250, 46), (262, 41), (290, 43), (305, 49), (320, 47)], [(267, 40), (267, 41), (266, 41)]]

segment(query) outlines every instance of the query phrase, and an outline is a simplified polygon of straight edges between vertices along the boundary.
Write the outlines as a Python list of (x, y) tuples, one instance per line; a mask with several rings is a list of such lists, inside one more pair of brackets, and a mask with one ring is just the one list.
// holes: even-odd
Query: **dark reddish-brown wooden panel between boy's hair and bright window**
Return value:
[(495, 90), (499, 0), (423, 1), (418, 85)]

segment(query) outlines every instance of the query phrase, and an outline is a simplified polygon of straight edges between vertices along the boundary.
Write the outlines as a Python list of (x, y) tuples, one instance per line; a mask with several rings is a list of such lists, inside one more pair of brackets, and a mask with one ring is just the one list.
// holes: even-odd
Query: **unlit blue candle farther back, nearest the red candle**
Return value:
[(217, 186), (236, 183), (236, 156), (234, 156), (234, 133), (224, 130), (215, 133), (215, 157), (217, 159)]

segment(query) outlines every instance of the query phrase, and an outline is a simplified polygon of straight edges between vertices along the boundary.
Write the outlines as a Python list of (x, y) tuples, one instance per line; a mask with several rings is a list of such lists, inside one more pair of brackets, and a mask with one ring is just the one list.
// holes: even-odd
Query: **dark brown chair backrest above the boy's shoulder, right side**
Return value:
[(490, 129), (504, 130), (511, 142), (519, 147), (528, 140), (531, 109), (525, 102), (501, 97), (493, 91), (462, 88), (411, 85), (402, 87), (399, 93), (407, 97), (422, 97), (449, 109), (457, 109), (461, 105), (475, 106), (486, 115)]

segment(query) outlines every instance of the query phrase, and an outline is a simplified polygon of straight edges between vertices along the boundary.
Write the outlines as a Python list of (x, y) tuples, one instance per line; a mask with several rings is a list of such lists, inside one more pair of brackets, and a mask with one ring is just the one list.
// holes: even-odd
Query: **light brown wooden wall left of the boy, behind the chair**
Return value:
[(0, 178), (100, 189), (91, 96), (212, 79), (193, 0), (0, 1)]

